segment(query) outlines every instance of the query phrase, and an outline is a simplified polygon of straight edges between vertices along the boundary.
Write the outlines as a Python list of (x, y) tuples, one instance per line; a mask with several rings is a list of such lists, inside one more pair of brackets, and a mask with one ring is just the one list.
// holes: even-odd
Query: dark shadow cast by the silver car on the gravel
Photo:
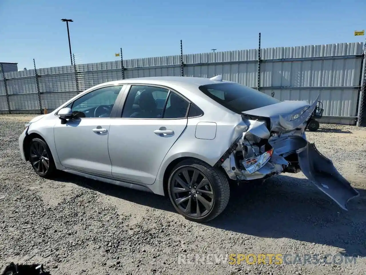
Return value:
[[(105, 195), (175, 212), (168, 198), (65, 175), (67, 181)], [(366, 256), (366, 190), (341, 209), (307, 179), (275, 176), (263, 184), (231, 186), (224, 212), (206, 225), (262, 238), (289, 238), (339, 247), (341, 253)]]

